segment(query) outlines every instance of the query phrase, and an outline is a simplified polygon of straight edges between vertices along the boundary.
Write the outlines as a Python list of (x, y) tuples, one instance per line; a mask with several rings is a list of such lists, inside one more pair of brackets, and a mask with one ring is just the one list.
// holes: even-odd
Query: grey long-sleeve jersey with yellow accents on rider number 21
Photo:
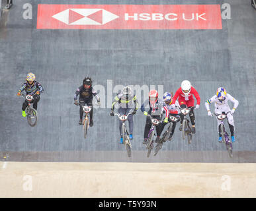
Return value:
[[(130, 94), (128, 98), (124, 94), (119, 93), (116, 98), (114, 98), (114, 102), (112, 103), (111, 109), (114, 110), (114, 105), (117, 103), (120, 104), (122, 108), (133, 108), (134, 110), (138, 110), (138, 99), (135, 95)], [(134, 104), (134, 105), (133, 105)]]

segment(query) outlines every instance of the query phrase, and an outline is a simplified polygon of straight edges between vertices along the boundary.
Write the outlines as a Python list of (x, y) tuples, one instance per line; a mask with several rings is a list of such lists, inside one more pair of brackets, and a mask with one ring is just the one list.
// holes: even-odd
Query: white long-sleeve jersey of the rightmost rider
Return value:
[(238, 102), (238, 100), (235, 100), (235, 98), (233, 98), (230, 94), (228, 94), (227, 93), (227, 95), (226, 95), (226, 99), (225, 100), (223, 100), (223, 101), (220, 101), (220, 100), (218, 100), (218, 97), (216, 96), (216, 95), (214, 95), (212, 98), (210, 98), (209, 100), (206, 100), (206, 102), (205, 102), (205, 107), (206, 107), (206, 109), (207, 109), (207, 111), (209, 111), (210, 110), (210, 104), (212, 104), (212, 103), (214, 103), (214, 106), (215, 106), (215, 108), (216, 109), (224, 109), (224, 108), (226, 108), (226, 107), (229, 107), (228, 106), (228, 101), (231, 101), (232, 103), (234, 103), (234, 109), (236, 109), (237, 108), (237, 106), (238, 106), (238, 104), (239, 104), (239, 102)]

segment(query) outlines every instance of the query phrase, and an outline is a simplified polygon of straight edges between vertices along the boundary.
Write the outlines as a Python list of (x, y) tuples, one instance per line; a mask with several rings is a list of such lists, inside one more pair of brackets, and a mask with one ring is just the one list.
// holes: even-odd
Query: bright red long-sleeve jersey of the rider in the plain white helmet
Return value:
[(175, 95), (173, 96), (173, 104), (175, 104), (177, 98), (179, 98), (179, 104), (185, 104), (187, 106), (194, 106), (194, 97), (196, 98), (196, 104), (200, 105), (200, 96), (196, 89), (191, 86), (191, 92), (187, 96), (181, 90), (181, 87), (176, 91)]

